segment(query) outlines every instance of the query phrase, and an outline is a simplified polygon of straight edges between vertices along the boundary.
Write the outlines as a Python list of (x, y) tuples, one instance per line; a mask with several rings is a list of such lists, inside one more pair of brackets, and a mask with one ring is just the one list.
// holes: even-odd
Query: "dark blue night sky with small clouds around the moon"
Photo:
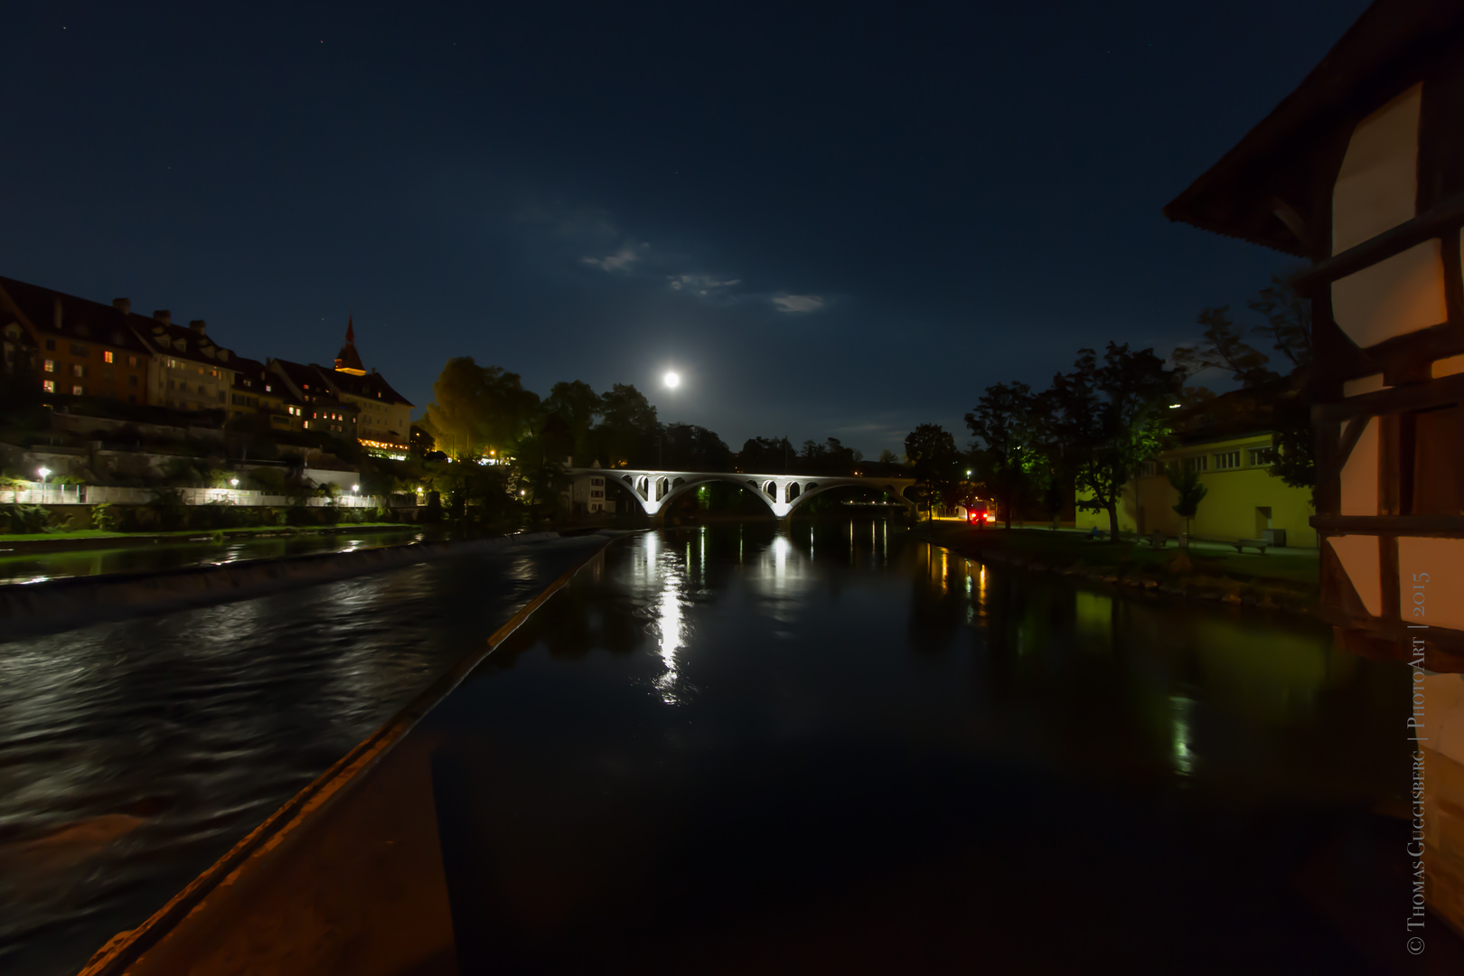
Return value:
[(978, 6), (10, 4), (0, 274), (255, 359), (354, 315), (419, 408), (466, 354), (733, 449), (965, 445), (1296, 266), (1159, 211), (1367, 4)]

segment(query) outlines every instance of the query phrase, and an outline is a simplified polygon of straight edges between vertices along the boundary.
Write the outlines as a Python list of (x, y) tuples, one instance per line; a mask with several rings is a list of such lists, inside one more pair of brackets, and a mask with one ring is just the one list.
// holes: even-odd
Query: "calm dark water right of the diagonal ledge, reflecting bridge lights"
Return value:
[(618, 543), (413, 735), (474, 970), (1414, 972), (1407, 688), (795, 521)]

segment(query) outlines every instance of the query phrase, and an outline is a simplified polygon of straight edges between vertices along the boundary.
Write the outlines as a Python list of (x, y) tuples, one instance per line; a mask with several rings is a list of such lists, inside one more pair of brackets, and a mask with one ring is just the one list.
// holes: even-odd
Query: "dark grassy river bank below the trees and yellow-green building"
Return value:
[(918, 537), (972, 559), (1083, 577), (1152, 593), (1312, 613), (1319, 596), (1316, 556), (1154, 549), (1146, 541), (1094, 541), (1042, 528), (975, 530), (922, 524)]

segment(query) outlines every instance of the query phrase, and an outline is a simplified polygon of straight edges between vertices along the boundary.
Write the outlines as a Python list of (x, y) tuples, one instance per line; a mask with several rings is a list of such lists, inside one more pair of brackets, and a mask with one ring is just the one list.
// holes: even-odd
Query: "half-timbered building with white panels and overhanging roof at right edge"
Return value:
[(1322, 610), (1414, 664), (1429, 904), (1464, 932), (1464, 3), (1378, 0), (1165, 212), (1310, 262)]

